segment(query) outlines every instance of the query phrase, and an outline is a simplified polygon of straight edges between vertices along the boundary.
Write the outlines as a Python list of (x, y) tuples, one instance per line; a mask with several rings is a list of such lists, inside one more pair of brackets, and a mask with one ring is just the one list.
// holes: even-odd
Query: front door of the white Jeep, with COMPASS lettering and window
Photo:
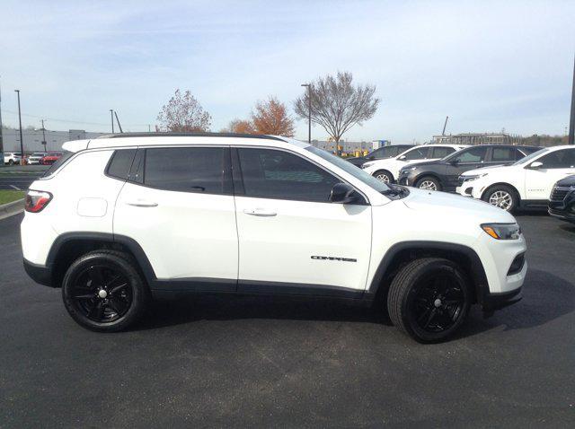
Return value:
[(371, 206), (329, 201), (342, 180), (299, 154), (239, 148), (232, 157), (239, 291), (365, 290)]

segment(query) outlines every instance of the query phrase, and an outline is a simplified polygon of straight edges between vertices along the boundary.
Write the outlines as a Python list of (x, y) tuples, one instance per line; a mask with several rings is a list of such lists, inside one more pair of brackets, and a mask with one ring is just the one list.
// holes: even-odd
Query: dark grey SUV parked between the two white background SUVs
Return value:
[(465, 171), (512, 164), (539, 149), (535, 146), (511, 144), (467, 147), (438, 161), (406, 166), (400, 171), (398, 182), (415, 188), (453, 192), (459, 184), (459, 176)]

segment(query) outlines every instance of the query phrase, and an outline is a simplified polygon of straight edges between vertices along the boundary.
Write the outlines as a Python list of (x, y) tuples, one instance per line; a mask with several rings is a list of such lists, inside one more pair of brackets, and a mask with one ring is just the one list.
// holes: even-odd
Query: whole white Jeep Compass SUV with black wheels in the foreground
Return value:
[(373, 178), (276, 136), (114, 135), (64, 144), (31, 184), (24, 267), (86, 328), (133, 324), (165, 293), (344, 298), (420, 342), (470, 306), (517, 302), (526, 242), (512, 215)]

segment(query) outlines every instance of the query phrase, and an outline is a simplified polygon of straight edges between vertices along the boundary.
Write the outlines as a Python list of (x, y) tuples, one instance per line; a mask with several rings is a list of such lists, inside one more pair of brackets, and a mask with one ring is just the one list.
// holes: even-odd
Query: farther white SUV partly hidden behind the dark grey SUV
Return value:
[(385, 183), (395, 183), (399, 178), (399, 172), (406, 165), (440, 160), (464, 147), (467, 146), (464, 144), (422, 144), (408, 149), (394, 158), (366, 162), (361, 168), (378, 180)]

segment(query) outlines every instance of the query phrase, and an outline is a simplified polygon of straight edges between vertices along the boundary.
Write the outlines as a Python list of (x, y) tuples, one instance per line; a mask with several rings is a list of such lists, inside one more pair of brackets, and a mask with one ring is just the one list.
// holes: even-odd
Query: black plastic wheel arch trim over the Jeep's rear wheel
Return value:
[(92, 250), (120, 250), (137, 262), (137, 269), (147, 285), (155, 280), (155, 272), (137, 241), (105, 232), (66, 232), (57, 237), (49, 250), (46, 266), (51, 272), (51, 285), (59, 287), (67, 267), (76, 258)]

